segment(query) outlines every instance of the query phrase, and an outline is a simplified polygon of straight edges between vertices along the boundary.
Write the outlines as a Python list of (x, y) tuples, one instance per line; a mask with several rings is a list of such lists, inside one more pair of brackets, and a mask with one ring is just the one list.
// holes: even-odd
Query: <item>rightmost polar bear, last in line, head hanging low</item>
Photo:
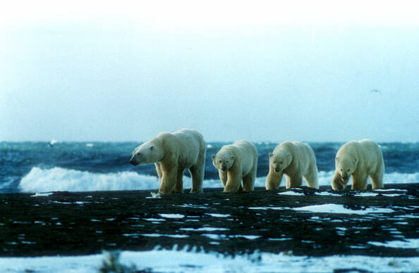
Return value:
[(352, 175), (352, 189), (367, 189), (368, 177), (372, 189), (383, 187), (384, 160), (379, 146), (370, 139), (348, 141), (336, 153), (336, 172), (332, 180), (332, 189), (344, 190)]

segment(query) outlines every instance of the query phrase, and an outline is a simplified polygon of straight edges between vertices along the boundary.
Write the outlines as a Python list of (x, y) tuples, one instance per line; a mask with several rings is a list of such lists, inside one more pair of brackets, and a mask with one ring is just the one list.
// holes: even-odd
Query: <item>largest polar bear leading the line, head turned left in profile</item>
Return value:
[(132, 165), (154, 163), (160, 180), (159, 193), (183, 191), (183, 171), (192, 177), (190, 192), (202, 192), (205, 170), (205, 141), (200, 132), (181, 129), (174, 133), (160, 133), (138, 146), (130, 159)]

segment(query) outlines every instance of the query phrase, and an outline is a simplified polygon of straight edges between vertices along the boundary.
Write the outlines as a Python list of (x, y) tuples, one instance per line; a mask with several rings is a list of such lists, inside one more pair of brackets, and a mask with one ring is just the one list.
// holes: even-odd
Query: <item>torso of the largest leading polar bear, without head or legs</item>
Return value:
[(164, 159), (177, 160), (178, 167), (188, 169), (197, 164), (198, 158), (205, 151), (205, 141), (200, 132), (193, 129), (181, 129), (174, 133), (161, 133), (157, 138), (162, 140)]

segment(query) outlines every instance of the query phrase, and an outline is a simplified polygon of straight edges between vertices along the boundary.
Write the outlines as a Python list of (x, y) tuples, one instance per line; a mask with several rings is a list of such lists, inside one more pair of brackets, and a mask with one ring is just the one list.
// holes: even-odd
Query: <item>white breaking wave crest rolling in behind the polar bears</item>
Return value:
[[(334, 171), (320, 171), (319, 185), (329, 186)], [(266, 177), (257, 177), (255, 186), (265, 186)], [(393, 172), (384, 175), (384, 184), (418, 183), (419, 172), (403, 174)], [(351, 183), (351, 182), (349, 182)], [(370, 182), (369, 182), (370, 183)], [(281, 186), (285, 186), (285, 178)], [(303, 182), (305, 186), (305, 182)], [(190, 189), (190, 177), (183, 177), (183, 186)], [(219, 179), (205, 179), (203, 187), (220, 188)], [(111, 172), (107, 174), (87, 172), (80, 170), (53, 167), (42, 169), (33, 167), (19, 182), (20, 192), (46, 192), (46, 191), (121, 191), (121, 190), (158, 190), (159, 179), (138, 172)]]

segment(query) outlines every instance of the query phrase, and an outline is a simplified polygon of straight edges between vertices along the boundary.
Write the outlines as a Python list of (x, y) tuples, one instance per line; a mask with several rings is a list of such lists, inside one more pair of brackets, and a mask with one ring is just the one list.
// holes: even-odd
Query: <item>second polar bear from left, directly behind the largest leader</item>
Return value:
[(218, 169), (224, 192), (253, 191), (257, 170), (257, 149), (248, 141), (236, 141), (221, 147), (212, 155), (212, 164)]

